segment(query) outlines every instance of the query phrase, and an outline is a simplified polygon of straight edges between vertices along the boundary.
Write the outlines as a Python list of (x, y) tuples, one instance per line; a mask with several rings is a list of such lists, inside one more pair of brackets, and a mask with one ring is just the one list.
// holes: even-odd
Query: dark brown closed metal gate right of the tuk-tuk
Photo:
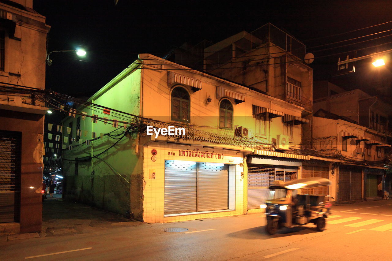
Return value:
[(362, 170), (340, 166), (338, 185), (338, 202), (362, 199)]

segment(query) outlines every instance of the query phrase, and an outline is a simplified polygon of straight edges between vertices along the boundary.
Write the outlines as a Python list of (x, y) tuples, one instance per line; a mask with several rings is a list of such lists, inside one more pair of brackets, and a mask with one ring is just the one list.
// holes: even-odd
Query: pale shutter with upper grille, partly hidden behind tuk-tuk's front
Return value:
[[(268, 167), (255, 164), (248, 165), (248, 209), (259, 208), (268, 195), (268, 187), (275, 180), (289, 181), (297, 179), (297, 167)], [(297, 190), (293, 190), (296, 195)]]

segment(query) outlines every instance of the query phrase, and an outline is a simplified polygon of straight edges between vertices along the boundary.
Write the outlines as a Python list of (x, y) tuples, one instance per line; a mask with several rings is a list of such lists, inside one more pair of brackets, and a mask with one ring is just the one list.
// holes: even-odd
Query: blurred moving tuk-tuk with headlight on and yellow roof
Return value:
[(265, 230), (274, 235), (278, 228), (298, 227), (313, 223), (318, 231), (325, 230), (325, 218), (331, 210), (331, 203), (327, 195), (297, 194), (297, 189), (314, 188), (331, 185), (326, 178), (304, 178), (291, 181), (276, 180), (269, 187), (269, 196), (265, 204), (267, 225)]

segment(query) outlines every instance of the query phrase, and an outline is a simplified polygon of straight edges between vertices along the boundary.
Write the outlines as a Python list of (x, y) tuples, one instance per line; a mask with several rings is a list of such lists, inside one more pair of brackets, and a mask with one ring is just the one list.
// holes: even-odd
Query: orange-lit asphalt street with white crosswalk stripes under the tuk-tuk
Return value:
[[(338, 205), (332, 210), (323, 232), (309, 224), (283, 228), (274, 236), (265, 233), (263, 214), (165, 224), (100, 226), (96, 220), (98, 225), (81, 233), (1, 242), (0, 260), (392, 259), (392, 200)], [(86, 223), (84, 219), (73, 220)], [(172, 227), (188, 230), (162, 231)]]

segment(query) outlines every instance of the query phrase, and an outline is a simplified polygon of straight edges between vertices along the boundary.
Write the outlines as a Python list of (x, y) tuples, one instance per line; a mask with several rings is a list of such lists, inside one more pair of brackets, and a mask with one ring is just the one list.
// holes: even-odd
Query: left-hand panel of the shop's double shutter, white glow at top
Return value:
[(164, 214), (196, 212), (196, 162), (165, 160)]

